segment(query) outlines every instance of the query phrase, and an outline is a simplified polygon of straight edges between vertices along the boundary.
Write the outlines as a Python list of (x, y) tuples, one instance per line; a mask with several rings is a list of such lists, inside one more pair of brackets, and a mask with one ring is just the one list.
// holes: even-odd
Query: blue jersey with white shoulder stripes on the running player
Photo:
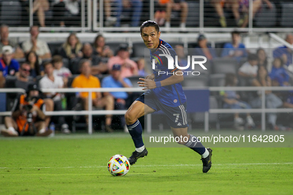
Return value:
[[(175, 65), (173, 70), (168, 69), (168, 58), (166, 56), (159, 56), (159, 54), (171, 55), (174, 59), (174, 62), (176, 56), (175, 50), (168, 43), (162, 41), (161, 39), (158, 48), (154, 49), (153, 51), (150, 50), (151, 62), (153, 59), (155, 59), (155, 69), (153, 70), (153, 74), (155, 75), (155, 82), (162, 81), (173, 76), (173, 73), (175, 74), (176, 70)], [(161, 74), (161, 71), (165, 72), (165, 74)], [(155, 88), (153, 89), (153, 92), (159, 101), (168, 106), (179, 106), (186, 101), (186, 97), (180, 83)]]

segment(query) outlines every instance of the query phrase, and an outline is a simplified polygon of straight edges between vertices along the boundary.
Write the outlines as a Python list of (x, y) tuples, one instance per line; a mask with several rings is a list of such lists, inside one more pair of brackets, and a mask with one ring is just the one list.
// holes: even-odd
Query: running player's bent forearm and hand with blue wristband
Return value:
[(143, 79), (139, 78), (139, 80), (142, 80), (143, 82), (137, 82), (140, 84), (140, 87), (144, 87), (142, 90), (150, 90), (150, 89), (155, 89), (157, 87), (163, 87), (163, 86), (168, 86), (168, 85), (174, 85), (176, 83), (180, 83), (184, 80), (183, 75), (172, 75), (171, 77), (164, 79), (162, 81), (153, 81), (151, 79)]

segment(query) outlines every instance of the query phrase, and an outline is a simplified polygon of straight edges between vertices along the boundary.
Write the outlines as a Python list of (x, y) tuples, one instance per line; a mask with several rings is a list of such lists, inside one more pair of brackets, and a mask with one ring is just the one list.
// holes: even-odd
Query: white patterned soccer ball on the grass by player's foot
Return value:
[(128, 159), (120, 154), (112, 156), (108, 162), (108, 171), (113, 176), (123, 176), (129, 171)]

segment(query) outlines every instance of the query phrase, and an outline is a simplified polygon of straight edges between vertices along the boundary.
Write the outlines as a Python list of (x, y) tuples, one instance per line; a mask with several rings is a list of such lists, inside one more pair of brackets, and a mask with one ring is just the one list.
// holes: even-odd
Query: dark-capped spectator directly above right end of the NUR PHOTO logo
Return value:
[(217, 57), (215, 49), (208, 46), (207, 38), (204, 35), (199, 35), (197, 38), (198, 47), (194, 49), (195, 55), (203, 55), (207, 59), (212, 60)]

